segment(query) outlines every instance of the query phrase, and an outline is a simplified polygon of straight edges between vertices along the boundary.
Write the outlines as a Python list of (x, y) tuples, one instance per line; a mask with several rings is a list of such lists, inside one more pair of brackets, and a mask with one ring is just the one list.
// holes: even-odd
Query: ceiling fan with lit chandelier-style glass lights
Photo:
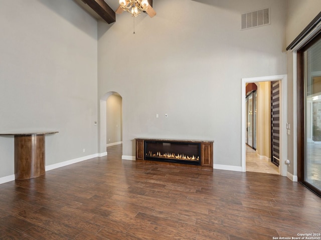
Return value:
[(121, 14), (123, 11), (128, 11), (134, 17), (138, 16), (141, 11), (146, 12), (150, 17), (156, 15), (148, 0), (119, 0), (119, 6), (115, 12)]

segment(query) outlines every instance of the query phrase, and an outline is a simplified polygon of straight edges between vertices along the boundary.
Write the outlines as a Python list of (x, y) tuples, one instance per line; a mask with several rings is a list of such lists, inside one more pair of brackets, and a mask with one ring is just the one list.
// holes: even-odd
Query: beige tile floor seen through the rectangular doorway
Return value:
[(254, 149), (246, 145), (246, 171), (280, 174), (279, 168), (272, 162), (260, 159)]

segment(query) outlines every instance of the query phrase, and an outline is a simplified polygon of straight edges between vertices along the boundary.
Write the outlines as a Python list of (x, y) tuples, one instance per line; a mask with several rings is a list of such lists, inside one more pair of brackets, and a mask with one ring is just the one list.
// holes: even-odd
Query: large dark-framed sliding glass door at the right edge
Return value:
[[(303, 184), (321, 195), (321, 37), (306, 45), (300, 52), (301, 81), (299, 96), (301, 120), (298, 157), (301, 158)], [(298, 102), (300, 107), (300, 103)]]

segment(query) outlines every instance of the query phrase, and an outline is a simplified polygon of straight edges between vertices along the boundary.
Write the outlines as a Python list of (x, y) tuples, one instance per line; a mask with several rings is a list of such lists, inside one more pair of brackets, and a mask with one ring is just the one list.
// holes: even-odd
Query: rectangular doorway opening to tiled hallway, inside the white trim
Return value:
[(246, 171), (279, 173), (279, 81), (246, 84)]

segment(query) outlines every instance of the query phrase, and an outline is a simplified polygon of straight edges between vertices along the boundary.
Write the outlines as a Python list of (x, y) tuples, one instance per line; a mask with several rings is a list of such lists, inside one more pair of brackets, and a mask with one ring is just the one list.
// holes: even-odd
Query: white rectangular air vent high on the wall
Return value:
[(270, 8), (259, 9), (242, 14), (242, 29), (270, 24)]

